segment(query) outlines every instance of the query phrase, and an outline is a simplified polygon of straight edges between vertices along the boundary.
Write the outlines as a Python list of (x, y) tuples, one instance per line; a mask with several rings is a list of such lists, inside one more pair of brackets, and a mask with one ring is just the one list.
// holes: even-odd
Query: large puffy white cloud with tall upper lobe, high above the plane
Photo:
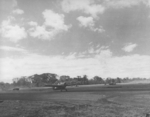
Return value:
[(51, 40), (55, 35), (62, 31), (68, 31), (70, 25), (64, 23), (64, 15), (53, 12), (52, 10), (45, 10), (43, 13), (45, 22), (42, 26), (39, 26), (37, 22), (29, 22), (32, 26), (29, 29), (29, 34), (32, 37), (38, 37), (39, 39)]

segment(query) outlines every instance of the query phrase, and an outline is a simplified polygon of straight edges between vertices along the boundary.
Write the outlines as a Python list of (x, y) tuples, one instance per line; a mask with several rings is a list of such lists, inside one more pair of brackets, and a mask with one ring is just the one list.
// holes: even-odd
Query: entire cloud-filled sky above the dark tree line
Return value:
[(0, 0), (0, 82), (150, 78), (149, 50), (150, 0)]

